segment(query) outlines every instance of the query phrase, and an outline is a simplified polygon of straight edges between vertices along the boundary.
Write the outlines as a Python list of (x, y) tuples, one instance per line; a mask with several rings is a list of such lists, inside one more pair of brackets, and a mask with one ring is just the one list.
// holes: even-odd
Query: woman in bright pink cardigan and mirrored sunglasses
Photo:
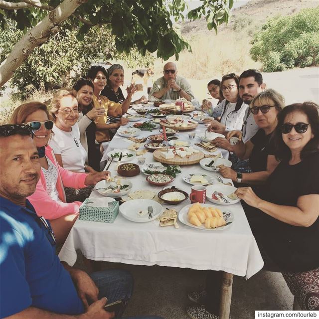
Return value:
[(18, 106), (10, 119), (10, 124), (29, 124), (34, 129), (34, 142), (39, 152), (41, 163), (40, 179), (35, 192), (28, 197), (39, 216), (50, 220), (57, 243), (63, 244), (75, 223), (79, 201), (66, 203), (64, 186), (83, 188), (95, 185), (102, 179), (107, 179), (109, 172), (95, 174), (76, 173), (61, 167), (48, 141), (51, 137), (53, 121), (45, 104), (29, 102)]

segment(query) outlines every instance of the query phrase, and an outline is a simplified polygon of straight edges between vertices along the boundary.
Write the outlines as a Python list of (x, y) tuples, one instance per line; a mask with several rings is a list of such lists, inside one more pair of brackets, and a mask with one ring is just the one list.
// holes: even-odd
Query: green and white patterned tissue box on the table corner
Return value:
[(107, 202), (106, 198), (87, 198), (80, 206), (79, 219), (113, 223), (118, 213), (119, 202), (116, 200)]

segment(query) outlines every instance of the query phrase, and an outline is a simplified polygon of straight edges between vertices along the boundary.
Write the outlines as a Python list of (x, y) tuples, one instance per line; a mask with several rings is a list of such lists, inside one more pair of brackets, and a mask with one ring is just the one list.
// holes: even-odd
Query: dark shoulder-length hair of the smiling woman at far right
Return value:
[(282, 125), (288, 114), (293, 112), (304, 113), (308, 117), (314, 138), (311, 139), (303, 148), (300, 158), (303, 160), (311, 154), (319, 152), (319, 106), (314, 102), (295, 103), (286, 106), (278, 114), (278, 125), (274, 132), (275, 157), (277, 160), (290, 160), (291, 151), (284, 143), (282, 135)]

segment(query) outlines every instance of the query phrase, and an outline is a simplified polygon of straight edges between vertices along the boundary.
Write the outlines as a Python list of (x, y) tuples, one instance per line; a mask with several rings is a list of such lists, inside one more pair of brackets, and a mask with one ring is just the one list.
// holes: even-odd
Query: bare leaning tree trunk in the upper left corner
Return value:
[(13, 75), (14, 71), (28, 57), (32, 50), (46, 42), (51, 34), (58, 31), (58, 25), (67, 19), (78, 6), (87, 0), (64, 0), (55, 9), (28, 30), (14, 45), (12, 52), (0, 65), (0, 87)]

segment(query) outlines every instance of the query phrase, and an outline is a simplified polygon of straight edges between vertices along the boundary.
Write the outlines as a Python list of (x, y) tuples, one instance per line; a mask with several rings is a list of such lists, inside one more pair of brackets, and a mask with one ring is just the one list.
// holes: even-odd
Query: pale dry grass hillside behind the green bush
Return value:
[[(177, 61), (178, 72), (190, 79), (220, 78), (248, 68), (261, 67), (250, 55), (252, 35), (271, 17), (290, 15), (303, 8), (316, 7), (319, 0), (251, 0), (232, 10), (228, 25), (221, 25), (217, 34), (209, 31), (204, 18), (184, 22), (182, 35), (190, 42), (192, 53), (184, 51)], [(172, 59), (173, 60), (173, 59)], [(163, 61), (155, 63), (156, 75), (161, 75)]]

